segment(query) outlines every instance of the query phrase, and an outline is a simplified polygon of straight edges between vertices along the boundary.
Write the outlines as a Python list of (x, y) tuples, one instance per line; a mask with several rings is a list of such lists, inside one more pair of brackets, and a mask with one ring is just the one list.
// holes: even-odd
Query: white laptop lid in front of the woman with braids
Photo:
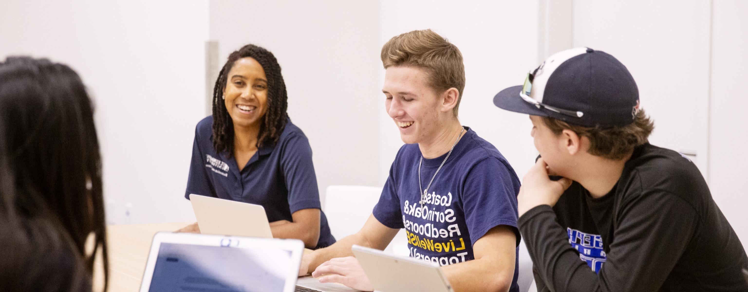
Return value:
[(189, 195), (200, 233), (272, 238), (270, 223), (261, 205)]

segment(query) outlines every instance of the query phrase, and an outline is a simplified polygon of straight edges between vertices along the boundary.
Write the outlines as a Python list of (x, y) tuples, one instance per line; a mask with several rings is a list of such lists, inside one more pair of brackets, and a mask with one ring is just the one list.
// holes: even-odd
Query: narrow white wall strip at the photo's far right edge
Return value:
[(748, 2), (712, 6), (709, 188), (748, 246)]

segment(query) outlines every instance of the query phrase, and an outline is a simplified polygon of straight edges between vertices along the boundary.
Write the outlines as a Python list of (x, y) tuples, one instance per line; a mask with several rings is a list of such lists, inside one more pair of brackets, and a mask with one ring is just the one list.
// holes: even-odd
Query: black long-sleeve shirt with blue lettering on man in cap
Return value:
[(748, 258), (696, 166), (637, 147), (610, 193), (574, 182), (519, 219), (538, 291), (748, 291)]

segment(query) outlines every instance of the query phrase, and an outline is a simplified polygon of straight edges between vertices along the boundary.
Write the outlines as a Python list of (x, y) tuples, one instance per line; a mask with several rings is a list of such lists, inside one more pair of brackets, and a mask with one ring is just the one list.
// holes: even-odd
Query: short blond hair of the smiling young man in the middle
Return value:
[(390, 66), (414, 66), (426, 70), (429, 86), (437, 93), (452, 87), (459, 92), (453, 114), (465, 89), (465, 65), (457, 46), (430, 29), (410, 31), (391, 38), (381, 47), (381, 63)]

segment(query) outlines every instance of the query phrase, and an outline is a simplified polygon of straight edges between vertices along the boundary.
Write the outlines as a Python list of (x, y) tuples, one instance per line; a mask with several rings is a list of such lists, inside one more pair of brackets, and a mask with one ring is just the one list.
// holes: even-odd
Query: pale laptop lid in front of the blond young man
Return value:
[(454, 292), (441, 267), (431, 261), (402, 258), (364, 246), (353, 246), (352, 252), (375, 291)]

